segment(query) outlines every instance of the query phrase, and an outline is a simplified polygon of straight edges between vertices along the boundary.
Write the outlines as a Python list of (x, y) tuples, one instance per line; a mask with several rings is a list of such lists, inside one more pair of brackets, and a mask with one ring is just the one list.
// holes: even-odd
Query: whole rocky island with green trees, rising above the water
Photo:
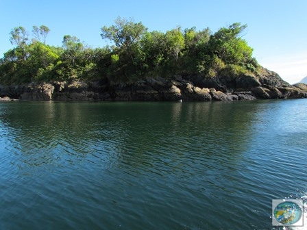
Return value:
[(66, 35), (62, 47), (46, 43), (49, 28), (11, 31), (14, 49), (0, 60), (0, 101), (238, 101), (307, 98), (260, 66), (241, 38), (246, 25), (181, 27), (166, 33), (117, 18), (101, 28), (112, 46), (92, 49)]

